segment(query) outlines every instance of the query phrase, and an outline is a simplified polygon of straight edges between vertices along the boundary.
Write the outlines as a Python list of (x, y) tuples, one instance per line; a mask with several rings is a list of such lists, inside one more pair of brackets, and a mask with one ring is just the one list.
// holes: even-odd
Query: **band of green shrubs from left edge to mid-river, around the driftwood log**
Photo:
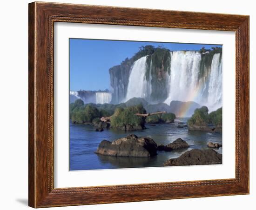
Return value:
[[(138, 98), (131, 100), (129, 104), (135, 102), (140, 102)], [(135, 115), (136, 113), (146, 114), (147, 111), (144, 109), (142, 104), (128, 106), (125, 103), (119, 105), (95, 105), (87, 104), (84, 105), (81, 99), (76, 100), (74, 103), (70, 104), (70, 119), (72, 123), (83, 124), (90, 123), (93, 125), (98, 125), (101, 123), (101, 117), (111, 118), (111, 127), (117, 129), (123, 129), (129, 126), (134, 129), (144, 129), (145, 122), (147, 123), (173, 123), (175, 114), (165, 113), (161, 115), (152, 115), (146, 117), (140, 117)]]

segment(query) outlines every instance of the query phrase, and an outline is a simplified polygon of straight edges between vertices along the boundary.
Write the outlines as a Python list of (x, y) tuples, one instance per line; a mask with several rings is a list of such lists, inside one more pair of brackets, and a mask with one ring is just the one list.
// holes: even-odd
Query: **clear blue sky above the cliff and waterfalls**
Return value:
[(218, 45), (181, 44), (97, 39), (69, 39), (70, 90), (105, 90), (110, 88), (108, 69), (131, 58), (140, 46), (163, 46), (171, 51), (200, 50)]

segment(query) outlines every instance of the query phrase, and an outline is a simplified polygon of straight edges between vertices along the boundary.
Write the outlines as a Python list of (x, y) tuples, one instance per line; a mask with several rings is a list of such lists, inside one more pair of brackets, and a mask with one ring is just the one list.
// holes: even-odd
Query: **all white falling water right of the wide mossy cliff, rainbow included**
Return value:
[[(172, 100), (194, 101), (206, 105), (209, 112), (222, 106), (222, 59), (213, 56), (209, 72), (199, 76), (201, 54), (195, 51), (176, 51), (171, 55), (169, 93), (165, 103)], [(207, 70), (205, 70), (207, 71)], [(208, 88), (207, 94), (204, 94)]]

